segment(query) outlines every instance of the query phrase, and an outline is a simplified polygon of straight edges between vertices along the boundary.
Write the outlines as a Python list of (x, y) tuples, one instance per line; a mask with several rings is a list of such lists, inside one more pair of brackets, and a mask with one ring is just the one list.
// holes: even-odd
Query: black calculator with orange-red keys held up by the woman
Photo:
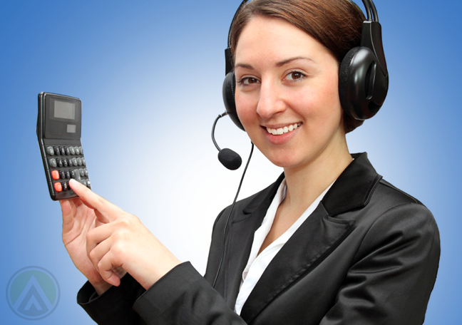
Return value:
[(81, 144), (82, 103), (74, 97), (39, 93), (37, 137), (52, 200), (78, 197), (71, 178), (91, 188)]

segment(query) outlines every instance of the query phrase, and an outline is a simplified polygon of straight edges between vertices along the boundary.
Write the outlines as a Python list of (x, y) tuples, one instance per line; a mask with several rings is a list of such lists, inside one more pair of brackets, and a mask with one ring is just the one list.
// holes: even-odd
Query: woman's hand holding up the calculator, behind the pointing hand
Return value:
[[(96, 219), (95, 212), (83, 204), (81, 199), (62, 200), (63, 212), (63, 243), (72, 262), (88, 279), (98, 294), (105, 292), (111, 284), (103, 280), (98, 270), (88, 258), (86, 237), (89, 229), (101, 224)], [(122, 275), (122, 274), (120, 274)]]

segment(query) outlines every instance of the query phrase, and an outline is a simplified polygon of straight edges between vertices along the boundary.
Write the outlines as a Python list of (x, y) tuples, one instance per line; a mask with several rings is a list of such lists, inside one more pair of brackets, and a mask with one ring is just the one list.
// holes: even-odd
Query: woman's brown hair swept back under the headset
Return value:
[[(233, 21), (230, 31), (234, 57), (240, 33), (253, 16), (267, 16), (288, 21), (329, 50), (337, 61), (361, 43), (365, 20), (356, 4), (349, 0), (252, 0), (245, 4)], [(345, 133), (363, 123), (344, 113)]]

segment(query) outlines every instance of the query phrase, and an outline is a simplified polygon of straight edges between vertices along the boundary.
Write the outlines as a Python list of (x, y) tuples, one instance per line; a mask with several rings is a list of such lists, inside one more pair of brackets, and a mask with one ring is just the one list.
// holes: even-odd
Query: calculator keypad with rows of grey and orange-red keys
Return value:
[(91, 189), (81, 146), (48, 145), (45, 152), (50, 168), (50, 179), (56, 193), (71, 191), (69, 187), (71, 178)]

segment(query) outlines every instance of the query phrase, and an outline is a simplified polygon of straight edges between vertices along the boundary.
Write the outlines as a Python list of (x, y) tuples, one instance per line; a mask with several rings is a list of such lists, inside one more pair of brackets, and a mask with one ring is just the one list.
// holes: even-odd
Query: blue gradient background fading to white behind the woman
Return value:
[[(224, 110), (223, 50), (239, 3), (1, 2), (2, 324), (31, 322), (9, 309), (5, 292), (16, 271), (33, 265), (48, 269), (61, 287), (56, 310), (34, 324), (93, 324), (75, 302), (84, 278), (61, 242), (61, 210), (43, 175), (36, 140), (41, 91), (81, 98), (93, 189), (205, 271), (212, 222), (232, 202), (242, 171), (225, 170), (210, 140)], [(425, 324), (460, 324), (461, 3), (376, 0), (376, 6), (389, 96), (376, 118), (347, 136), (349, 148), (367, 151), (386, 180), (433, 212), (441, 262)], [(227, 118), (217, 141), (244, 159), (250, 151), (245, 133)], [(279, 172), (257, 153), (240, 197)]]

